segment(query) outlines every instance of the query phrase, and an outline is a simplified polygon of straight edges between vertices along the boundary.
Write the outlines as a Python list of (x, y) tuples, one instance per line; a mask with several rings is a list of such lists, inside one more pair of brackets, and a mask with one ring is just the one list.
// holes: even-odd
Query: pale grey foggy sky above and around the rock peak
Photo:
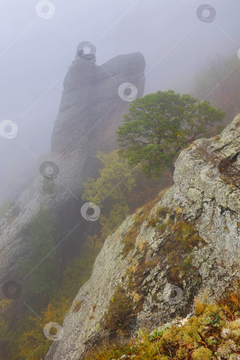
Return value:
[(95, 44), (98, 63), (140, 51), (145, 93), (188, 92), (209, 58), (237, 54), (240, 46), (239, 0), (209, 0), (216, 11), (211, 23), (196, 15), (201, 0), (52, 0), (50, 19), (36, 13), (37, 3), (0, 3), (0, 122), (19, 127), (13, 139), (0, 136), (0, 186), (36, 164), (30, 152), (50, 148), (64, 73), (80, 42)]

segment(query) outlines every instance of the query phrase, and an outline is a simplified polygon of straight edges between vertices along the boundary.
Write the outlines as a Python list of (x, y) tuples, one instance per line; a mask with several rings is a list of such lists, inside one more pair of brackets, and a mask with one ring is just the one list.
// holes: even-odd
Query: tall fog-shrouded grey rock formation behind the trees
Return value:
[(115, 132), (130, 104), (119, 96), (119, 86), (131, 83), (137, 88), (137, 97), (141, 97), (144, 67), (140, 53), (118, 56), (98, 66), (96, 57), (84, 60), (76, 55), (64, 79), (52, 133), (52, 158), (46, 159), (59, 169), (54, 190), (52, 194), (44, 192), (43, 176), (39, 175), (17, 201), (17, 212), (10, 211), (0, 221), (1, 284), (9, 279), (18, 281), (14, 271), (19, 261), (28, 256), (27, 226), (41, 206), (53, 212), (63, 229), (62, 239), (75, 227), (81, 235), (87, 223), (80, 214), (82, 184), (88, 176), (98, 173), (97, 150), (116, 148)]

